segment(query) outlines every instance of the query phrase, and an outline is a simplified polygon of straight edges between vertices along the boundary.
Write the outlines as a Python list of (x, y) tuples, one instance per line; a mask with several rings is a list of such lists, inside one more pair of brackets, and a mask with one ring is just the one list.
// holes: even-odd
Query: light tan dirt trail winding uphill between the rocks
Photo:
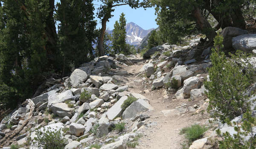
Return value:
[[(139, 65), (126, 66), (123, 67), (122, 71), (127, 71), (129, 91), (134, 93), (140, 93), (148, 98), (151, 106), (154, 107), (154, 110), (148, 112), (150, 118), (147, 119), (148, 123), (157, 122), (156, 126), (150, 128), (145, 127), (143, 133), (145, 137), (140, 138), (139, 145), (136, 146), (137, 149), (180, 149), (181, 143), (184, 142), (185, 138), (183, 135), (179, 135), (180, 129), (186, 126), (190, 126), (195, 123), (204, 124), (209, 115), (207, 112), (203, 114), (194, 115), (193, 112), (187, 110), (186, 113), (182, 115), (176, 115), (173, 117), (165, 117), (164, 115), (159, 115), (162, 110), (175, 109), (177, 106), (181, 106), (182, 103), (186, 103), (187, 107), (197, 104), (201, 106), (204, 103), (204, 100), (195, 100), (189, 101), (188, 99), (184, 100), (173, 100), (174, 95), (168, 95), (164, 98), (163, 93), (166, 88), (155, 89), (151, 91), (152, 80), (145, 80), (144, 83), (142, 77), (136, 77), (144, 63)], [(136, 83), (140, 80), (140, 83)], [(148, 89), (149, 92), (142, 93), (145, 89)]]

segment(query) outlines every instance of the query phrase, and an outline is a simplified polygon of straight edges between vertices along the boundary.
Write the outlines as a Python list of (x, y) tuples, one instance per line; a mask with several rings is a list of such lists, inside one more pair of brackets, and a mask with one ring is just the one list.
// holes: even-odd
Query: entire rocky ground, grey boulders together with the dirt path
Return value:
[[(240, 44), (246, 43), (243, 34), (247, 31), (227, 28), (221, 34), (224, 47), (232, 47), (232, 37), (241, 36), (241, 42), (233, 42), (236, 47), (256, 54), (254, 47)], [(248, 36), (256, 40), (255, 34)], [(218, 149), (214, 129), (236, 132), (206, 112), (209, 99), (204, 81), (209, 81), (211, 47), (200, 45), (198, 49), (199, 41), (190, 39), (187, 46), (163, 44), (149, 49), (144, 59), (138, 54), (96, 57), (70, 76), (47, 79), (34, 97), (9, 115), (0, 116), (4, 117), (0, 148), (42, 149), (45, 144), (35, 138), (60, 131), (60, 138), (47, 143), (56, 140), (55, 146), (67, 140), (60, 147), (64, 149), (90, 149), (93, 145), (127, 149), (134, 144), (137, 149), (184, 149), (184, 145), (186, 149)], [(255, 86), (248, 91), (253, 92)], [(241, 122), (241, 116), (234, 121)], [(208, 130), (188, 145), (180, 130), (194, 124)]]

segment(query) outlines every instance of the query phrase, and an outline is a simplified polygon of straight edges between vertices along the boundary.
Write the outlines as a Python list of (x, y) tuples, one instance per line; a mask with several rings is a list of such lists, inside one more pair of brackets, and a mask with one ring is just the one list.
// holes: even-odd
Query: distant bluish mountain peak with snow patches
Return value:
[[(125, 31), (127, 32), (126, 43), (134, 46), (138, 45), (143, 40), (143, 38), (148, 35), (148, 33), (154, 30), (154, 28), (145, 30), (133, 22), (127, 23), (125, 28)], [(113, 30), (108, 30), (107, 32), (112, 34)]]

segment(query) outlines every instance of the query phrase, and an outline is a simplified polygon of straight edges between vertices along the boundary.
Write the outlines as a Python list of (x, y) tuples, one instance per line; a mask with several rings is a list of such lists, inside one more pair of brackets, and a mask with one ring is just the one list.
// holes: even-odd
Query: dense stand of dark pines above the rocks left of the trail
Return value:
[(93, 58), (93, 10), (92, 0), (1, 0), (0, 105), (16, 107), (44, 80)]

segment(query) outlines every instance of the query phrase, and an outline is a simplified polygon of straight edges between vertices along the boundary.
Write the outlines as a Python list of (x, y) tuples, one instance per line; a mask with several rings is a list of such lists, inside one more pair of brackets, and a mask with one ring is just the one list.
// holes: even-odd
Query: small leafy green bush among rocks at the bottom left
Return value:
[(61, 129), (51, 130), (50, 127), (47, 129), (44, 127), (43, 131), (37, 129), (35, 134), (37, 135), (35, 140), (44, 149), (64, 149), (68, 143), (67, 139), (61, 136)]

